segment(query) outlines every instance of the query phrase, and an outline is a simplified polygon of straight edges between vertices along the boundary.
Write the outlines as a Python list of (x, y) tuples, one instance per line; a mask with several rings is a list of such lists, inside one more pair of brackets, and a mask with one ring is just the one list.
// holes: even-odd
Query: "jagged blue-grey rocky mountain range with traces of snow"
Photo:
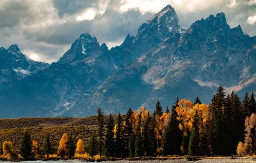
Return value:
[(143, 23), (136, 36), (108, 49), (81, 34), (51, 65), (0, 48), (1, 117), (125, 113), (140, 106), (152, 112), (159, 100), (177, 97), (210, 103), (219, 85), (244, 96), (256, 91), (256, 36), (230, 28), (224, 13), (181, 27), (170, 5)]

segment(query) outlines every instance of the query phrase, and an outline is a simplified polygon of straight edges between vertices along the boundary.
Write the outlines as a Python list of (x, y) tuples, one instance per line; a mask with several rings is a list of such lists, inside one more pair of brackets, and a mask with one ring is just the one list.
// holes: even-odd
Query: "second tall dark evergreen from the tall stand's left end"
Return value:
[(110, 118), (107, 121), (107, 134), (105, 140), (105, 149), (106, 149), (106, 156), (113, 157), (115, 154), (115, 146), (113, 145), (115, 142), (114, 138), (114, 119), (110, 114)]

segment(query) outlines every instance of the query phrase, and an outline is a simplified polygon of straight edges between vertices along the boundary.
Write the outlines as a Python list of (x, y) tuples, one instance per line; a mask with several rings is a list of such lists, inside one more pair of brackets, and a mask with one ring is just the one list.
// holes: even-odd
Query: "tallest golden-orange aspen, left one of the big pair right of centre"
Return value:
[(185, 137), (187, 136), (187, 130), (192, 129), (192, 117), (193, 117), (193, 103), (190, 100), (182, 99), (179, 102), (179, 106), (176, 108), (178, 114), (177, 120), (180, 121), (179, 127), (183, 132), (183, 142), (180, 150), (183, 154), (186, 153), (185, 149)]

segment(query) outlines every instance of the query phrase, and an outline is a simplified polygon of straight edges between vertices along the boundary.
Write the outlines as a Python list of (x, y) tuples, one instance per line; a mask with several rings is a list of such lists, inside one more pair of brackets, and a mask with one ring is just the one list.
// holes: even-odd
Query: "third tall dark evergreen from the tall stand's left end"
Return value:
[(123, 128), (124, 128), (124, 125), (123, 125), (123, 121), (122, 121), (122, 117), (121, 117), (121, 114), (119, 112), (119, 115), (118, 115), (118, 119), (117, 119), (117, 124), (116, 124), (116, 157), (122, 157), (122, 152), (124, 151), (123, 150), (123, 139), (122, 139), (122, 136), (123, 136)]

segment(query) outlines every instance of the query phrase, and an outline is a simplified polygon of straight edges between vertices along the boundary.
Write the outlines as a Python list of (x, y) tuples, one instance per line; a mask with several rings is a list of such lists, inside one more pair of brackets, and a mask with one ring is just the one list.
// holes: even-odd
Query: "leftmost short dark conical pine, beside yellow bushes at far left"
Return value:
[(30, 138), (30, 134), (28, 133), (28, 130), (26, 130), (21, 139), (20, 155), (24, 158), (31, 157), (32, 156), (31, 147), (32, 147), (32, 141)]

